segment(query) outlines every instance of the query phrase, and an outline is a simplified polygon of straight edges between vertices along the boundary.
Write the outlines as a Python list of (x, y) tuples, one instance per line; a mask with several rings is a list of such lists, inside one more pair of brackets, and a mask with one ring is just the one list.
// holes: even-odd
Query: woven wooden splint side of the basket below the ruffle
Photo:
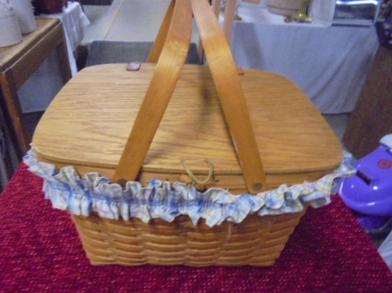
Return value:
[(172, 223), (71, 215), (93, 265), (273, 265), (304, 211), (248, 216), (242, 223), (196, 226), (187, 216)]

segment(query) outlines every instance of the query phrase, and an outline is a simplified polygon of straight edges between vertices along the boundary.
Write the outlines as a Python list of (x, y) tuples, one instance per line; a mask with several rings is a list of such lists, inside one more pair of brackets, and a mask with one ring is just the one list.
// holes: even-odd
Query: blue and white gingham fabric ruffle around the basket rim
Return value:
[(355, 172), (350, 161), (351, 155), (346, 154), (333, 174), (313, 183), (282, 185), (257, 195), (233, 195), (222, 188), (200, 192), (186, 183), (170, 184), (158, 179), (152, 179), (145, 187), (139, 182), (128, 181), (123, 190), (98, 173), (88, 173), (86, 179), (82, 179), (73, 166), (58, 170), (53, 164), (40, 162), (33, 148), (24, 156), (29, 171), (44, 179), (43, 191), (53, 208), (68, 209), (74, 215), (88, 216), (96, 212), (100, 217), (117, 220), (140, 218), (145, 223), (151, 218), (170, 222), (178, 215), (189, 215), (194, 225), (204, 218), (210, 227), (225, 220), (240, 223), (251, 214), (295, 213), (302, 211), (308, 203), (314, 208), (324, 206), (336, 192), (337, 181)]

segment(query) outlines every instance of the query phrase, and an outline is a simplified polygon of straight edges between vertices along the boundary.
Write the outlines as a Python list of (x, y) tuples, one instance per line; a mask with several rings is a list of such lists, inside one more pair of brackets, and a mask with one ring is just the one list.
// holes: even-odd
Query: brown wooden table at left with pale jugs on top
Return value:
[(11, 122), (19, 154), (29, 149), (29, 134), (19, 102), (18, 90), (53, 51), (58, 55), (63, 83), (71, 79), (63, 25), (57, 18), (36, 18), (37, 29), (16, 46), (0, 48), (1, 97)]

